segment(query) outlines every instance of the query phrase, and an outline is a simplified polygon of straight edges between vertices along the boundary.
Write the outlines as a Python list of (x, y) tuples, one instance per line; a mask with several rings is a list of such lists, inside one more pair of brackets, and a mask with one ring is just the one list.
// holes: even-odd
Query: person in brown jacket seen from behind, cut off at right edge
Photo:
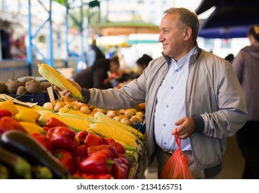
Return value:
[(243, 179), (259, 179), (259, 25), (249, 29), (248, 38), (251, 45), (242, 48), (232, 63), (249, 113), (237, 141), (245, 160)]

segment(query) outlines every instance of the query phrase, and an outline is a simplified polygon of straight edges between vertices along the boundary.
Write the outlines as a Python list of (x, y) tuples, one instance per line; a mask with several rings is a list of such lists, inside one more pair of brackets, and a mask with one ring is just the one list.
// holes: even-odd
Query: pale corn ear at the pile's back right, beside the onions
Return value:
[(136, 130), (135, 128), (131, 127), (130, 125), (125, 125), (124, 123), (120, 123), (119, 121), (115, 121), (111, 119), (111, 117), (103, 114), (102, 112), (95, 113), (95, 121), (102, 122), (110, 127), (121, 128), (122, 130), (126, 130), (128, 132), (131, 132), (132, 134), (135, 134), (140, 139), (144, 139), (144, 135), (138, 130)]

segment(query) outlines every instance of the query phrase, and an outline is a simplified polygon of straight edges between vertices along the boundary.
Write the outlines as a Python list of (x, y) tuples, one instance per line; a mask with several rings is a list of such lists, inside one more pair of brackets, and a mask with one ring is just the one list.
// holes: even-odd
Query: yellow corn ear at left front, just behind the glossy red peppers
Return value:
[(86, 119), (77, 119), (71, 116), (61, 116), (55, 113), (41, 114), (41, 116), (39, 116), (39, 124), (41, 126), (45, 126), (46, 123), (48, 122), (48, 118), (50, 117), (55, 117), (59, 119), (59, 121), (62, 121), (63, 123), (68, 125), (68, 127), (74, 130), (75, 132), (79, 132), (81, 130), (87, 130), (88, 126), (90, 125), (90, 122)]

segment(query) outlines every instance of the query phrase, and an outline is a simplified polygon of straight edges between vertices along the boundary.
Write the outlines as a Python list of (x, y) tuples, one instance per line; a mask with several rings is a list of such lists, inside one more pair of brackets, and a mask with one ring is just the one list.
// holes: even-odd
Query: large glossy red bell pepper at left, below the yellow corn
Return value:
[(77, 148), (78, 141), (75, 139), (75, 132), (70, 128), (61, 126), (50, 128), (46, 136), (51, 141), (53, 149), (74, 151)]

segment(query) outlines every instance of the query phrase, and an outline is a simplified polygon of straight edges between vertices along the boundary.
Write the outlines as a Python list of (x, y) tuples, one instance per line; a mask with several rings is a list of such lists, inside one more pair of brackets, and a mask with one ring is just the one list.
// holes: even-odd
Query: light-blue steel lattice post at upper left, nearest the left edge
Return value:
[[(32, 48), (34, 48), (36, 50), (36, 52), (38, 52), (41, 57), (43, 58), (44, 62), (47, 63), (50, 66), (53, 66), (53, 46), (52, 46), (52, 17), (51, 17), (51, 13), (52, 13), (52, 0), (49, 1), (49, 10), (44, 6), (44, 4), (38, 0), (39, 4), (41, 4), (41, 6), (44, 8), (44, 10), (46, 10), (46, 12), (48, 12), (48, 18), (46, 19), (46, 21), (44, 21), (44, 23), (41, 24), (41, 26), (39, 26), (39, 28), (36, 30), (36, 32), (34, 34), (32, 34), (32, 22), (31, 22), (31, 3), (30, 0), (28, 0), (28, 39), (29, 39), (29, 46), (28, 46), (28, 64), (30, 66), (29, 68), (29, 75), (32, 76), (32, 64), (33, 64), (33, 56), (32, 56)], [(37, 48), (37, 45), (35, 45), (34, 43), (32, 43), (32, 39), (34, 39), (35, 37), (37, 37), (37, 34), (40, 32), (40, 30), (42, 28), (44, 28), (44, 26), (46, 25), (46, 23), (49, 23), (49, 56), (48, 58), (46, 56), (44, 56), (44, 54), (41, 53), (41, 50), (39, 50)]]

